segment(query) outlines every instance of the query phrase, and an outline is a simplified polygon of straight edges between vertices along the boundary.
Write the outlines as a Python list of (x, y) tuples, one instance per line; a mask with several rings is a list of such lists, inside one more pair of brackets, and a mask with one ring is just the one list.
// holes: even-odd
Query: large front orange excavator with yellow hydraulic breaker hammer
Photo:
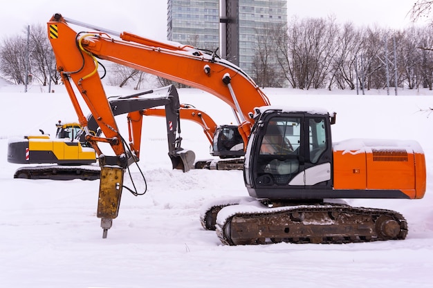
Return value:
[[(91, 31), (75, 32), (69, 24)], [(250, 197), (212, 200), (201, 213), (203, 227), (216, 230), (224, 244), (368, 242), (407, 236), (400, 213), (351, 207), (340, 200), (423, 198), (425, 157), (417, 142), (333, 143), (335, 113), (270, 105), (246, 73), (214, 52), (105, 30), (59, 14), (47, 25), (57, 70), (86, 140), (102, 158), (97, 216), (103, 238), (118, 215), (128, 159), (138, 157), (139, 147), (131, 143), (127, 153), (100, 81), (98, 59), (200, 88), (239, 115), (246, 144), (243, 177)], [(72, 82), (105, 137), (89, 133)], [(131, 126), (132, 131), (137, 128)], [(98, 142), (109, 143), (115, 155), (102, 157)]]

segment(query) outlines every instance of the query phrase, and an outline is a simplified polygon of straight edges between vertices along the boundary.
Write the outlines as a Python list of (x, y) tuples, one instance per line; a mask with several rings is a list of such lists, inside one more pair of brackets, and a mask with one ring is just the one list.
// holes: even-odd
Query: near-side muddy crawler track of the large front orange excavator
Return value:
[[(224, 209), (243, 211), (246, 205)], [(407, 222), (403, 215), (383, 209), (342, 204), (302, 205), (239, 212), (216, 221), (223, 244), (351, 243), (403, 240)], [(221, 211), (219, 212), (221, 214)], [(220, 218), (220, 216), (218, 216)]]

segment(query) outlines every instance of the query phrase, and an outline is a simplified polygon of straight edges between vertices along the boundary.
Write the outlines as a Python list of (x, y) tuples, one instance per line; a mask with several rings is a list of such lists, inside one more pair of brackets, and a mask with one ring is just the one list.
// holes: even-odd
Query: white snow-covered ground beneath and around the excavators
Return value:
[[(6, 161), (8, 140), (55, 133), (55, 123), (76, 116), (64, 87), (0, 84), (0, 287), (432, 287), (433, 92), (264, 89), (273, 104), (337, 112), (333, 141), (351, 138), (416, 140), (427, 160), (421, 200), (348, 200), (354, 206), (393, 209), (409, 224), (406, 240), (359, 244), (272, 244), (228, 247), (199, 222), (201, 205), (246, 196), (241, 171), (172, 170), (162, 118), (146, 117), (142, 155), (148, 191), (123, 191), (120, 214), (102, 239), (96, 218), (98, 181), (17, 180)], [(107, 88), (109, 95), (136, 91)], [(390, 91), (394, 94), (394, 90)], [(234, 122), (215, 97), (179, 90), (218, 124)], [(118, 117), (121, 126), (125, 118)], [(201, 128), (182, 122), (183, 148), (208, 158)], [(140, 176), (133, 170), (136, 183)], [(128, 185), (128, 183), (126, 183)]]

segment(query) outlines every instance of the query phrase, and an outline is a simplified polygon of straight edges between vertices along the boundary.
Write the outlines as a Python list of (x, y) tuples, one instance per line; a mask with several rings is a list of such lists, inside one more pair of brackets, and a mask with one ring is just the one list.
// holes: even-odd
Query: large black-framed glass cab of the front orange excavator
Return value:
[[(332, 189), (328, 113), (267, 110), (250, 135), (244, 177), (256, 198), (321, 198)], [(316, 193), (318, 192), (318, 193)]]

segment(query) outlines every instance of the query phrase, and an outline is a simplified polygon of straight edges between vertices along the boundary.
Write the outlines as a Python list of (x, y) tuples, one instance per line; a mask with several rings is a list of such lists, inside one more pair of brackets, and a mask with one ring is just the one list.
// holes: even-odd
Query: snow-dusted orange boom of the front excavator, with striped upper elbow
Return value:
[[(270, 104), (259, 86), (243, 70), (229, 61), (220, 59), (215, 53), (207, 54), (203, 50), (181, 44), (165, 44), (129, 32), (104, 30), (77, 34), (68, 26), (68, 22), (91, 26), (66, 19), (59, 14), (54, 15), (48, 22), (48, 33), (57, 65), (63, 70), (65, 65), (71, 67), (71, 70), (64, 71), (68, 75), (71, 74), (76, 84), (82, 84), (80, 82), (82, 77), (90, 77), (95, 73), (93, 64), (80, 68), (83, 57), (86, 59), (84, 63), (96, 61), (95, 58), (105, 59), (205, 90), (222, 99), (239, 115), (241, 119), (239, 131), (244, 143), (248, 141), (254, 122), (252, 119), (254, 108)], [(120, 37), (121, 40), (110, 37), (109, 33)], [(77, 49), (77, 46), (80, 49)], [(89, 88), (93, 90), (93, 87)], [(81, 90), (85, 94), (84, 89)], [(242, 93), (234, 93), (234, 90)], [(102, 91), (99, 90), (98, 93)], [(104, 97), (104, 93), (98, 95), (100, 99)], [(77, 108), (75, 110), (80, 113)], [(101, 106), (98, 110), (100, 113), (109, 113), (107, 106), (104, 108)], [(84, 122), (83, 117), (80, 119)], [(113, 132), (109, 135), (115, 137)]]

